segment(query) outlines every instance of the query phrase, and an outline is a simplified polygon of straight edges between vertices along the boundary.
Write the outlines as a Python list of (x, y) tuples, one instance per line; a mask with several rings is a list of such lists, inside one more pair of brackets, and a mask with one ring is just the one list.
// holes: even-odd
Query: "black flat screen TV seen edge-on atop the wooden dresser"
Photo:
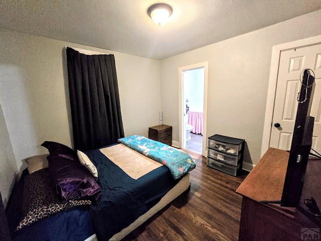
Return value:
[(314, 76), (311, 75), (311, 70), (303, 70), (300, 92), (297, 96), (298, 107), (291, 149), (280, 201), (280, 205), (284, 207), (297, 207), (300, 202), (304, 174), (312, 145), (314, 117), (310, 116), (310, 110), (314, 86)]

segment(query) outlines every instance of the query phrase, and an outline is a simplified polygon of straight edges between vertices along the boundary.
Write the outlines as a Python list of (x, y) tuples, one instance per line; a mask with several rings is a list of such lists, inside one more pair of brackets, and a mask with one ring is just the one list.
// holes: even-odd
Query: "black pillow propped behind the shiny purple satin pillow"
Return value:
[(41, 144), (41, 146), (47, 148), (50, 155), (60, 156), (79, 162), (77, 153), (70, 147), (67, 147), (63, 144), (45, 141), (43, 144)]

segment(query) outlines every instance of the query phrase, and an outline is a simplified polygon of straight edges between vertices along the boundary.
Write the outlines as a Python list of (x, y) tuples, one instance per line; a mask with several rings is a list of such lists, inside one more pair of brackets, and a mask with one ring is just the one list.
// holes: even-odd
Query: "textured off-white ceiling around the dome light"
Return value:
[(320, 0), (164, 0), (163, 26), (148, 17), (154, 0), (0, 2), (0, 28), (137, 56), (164, 59), (321, 9)]

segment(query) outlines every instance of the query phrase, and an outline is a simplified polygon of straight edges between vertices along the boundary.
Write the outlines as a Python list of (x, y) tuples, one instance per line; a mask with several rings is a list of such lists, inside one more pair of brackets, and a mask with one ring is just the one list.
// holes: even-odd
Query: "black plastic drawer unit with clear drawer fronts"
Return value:
[(245, 140), (221, 135), (208, 138), (207, 166), (237, 176), (242, 172)]

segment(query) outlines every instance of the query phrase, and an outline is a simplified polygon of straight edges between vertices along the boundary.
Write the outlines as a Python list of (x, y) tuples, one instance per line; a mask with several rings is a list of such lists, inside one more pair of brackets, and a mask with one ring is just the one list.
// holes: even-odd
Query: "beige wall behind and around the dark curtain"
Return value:
[(159, 61), (0, 30), (0, 104), (20, 172), (23, 158), (47, 152), (46, 140), (72, 146), (64, 46), (114, 54), (126, 136), (159, 122)]

